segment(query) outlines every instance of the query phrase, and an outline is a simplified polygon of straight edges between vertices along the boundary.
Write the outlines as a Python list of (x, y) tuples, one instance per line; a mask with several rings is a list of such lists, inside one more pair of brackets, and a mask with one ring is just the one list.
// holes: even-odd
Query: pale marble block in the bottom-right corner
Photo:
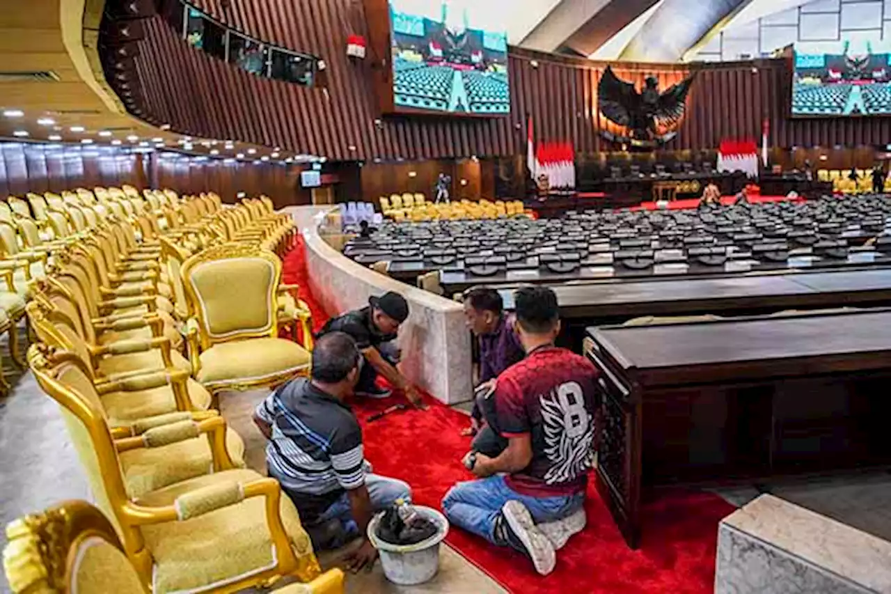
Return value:
[(762, 495), (718, 527), (715, 594), (891, 593), (891, 542)]

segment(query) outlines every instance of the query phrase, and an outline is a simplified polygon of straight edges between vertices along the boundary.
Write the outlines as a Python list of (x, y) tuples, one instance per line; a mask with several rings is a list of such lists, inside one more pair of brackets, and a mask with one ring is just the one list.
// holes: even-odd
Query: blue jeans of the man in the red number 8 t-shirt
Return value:
[(514, 499), (527, 507), (535, 524), (544, 524), (576, 512), (584, 504), (584, 493), (531, 497), (513, 491), (504, 482), (503, 474), (495, 474), (456, 484), (443, 499), (443, 512), (452, 524), (489, 542), (504, 545), (506, 543), (495, 540), (495, 519), (501, 514), (504, 504)]

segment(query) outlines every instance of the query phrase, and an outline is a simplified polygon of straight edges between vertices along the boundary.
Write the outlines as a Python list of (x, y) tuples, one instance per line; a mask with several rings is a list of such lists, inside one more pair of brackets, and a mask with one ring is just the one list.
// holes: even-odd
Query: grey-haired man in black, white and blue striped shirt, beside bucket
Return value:
[[(282, 483), (318, 549), (364, 537), (374, 512), (412, 495), (407, 483), (371, 474), (364, 459), (362, 429), (344, 402), (356, 386), (359, 357), (349, 335), (323, 335), (315, 342), (311, 378), (282, 385), (254, 412), (269, 440), (269, 475)], [(376, 557), (366, 537), (348, 566), (358, 570)]]

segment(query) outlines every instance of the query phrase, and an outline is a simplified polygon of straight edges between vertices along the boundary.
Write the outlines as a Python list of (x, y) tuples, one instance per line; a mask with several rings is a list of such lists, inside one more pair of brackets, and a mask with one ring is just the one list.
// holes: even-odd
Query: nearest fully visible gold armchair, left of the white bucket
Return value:
[[(102, 410), (84, 397), (89, 381), (71, 359), (37, 345), (29, 350), (37, 383), (61, 405), (97, 505), (118, 532), (144, 588), (154, 594), (235, 592), (284, 575), (301, 582), (318, 577), (321, 570), (297, 509), (282, 497), (276, 480), (233, 467), (222, 418), (161, 425), (116, 441)], [(130, 498), (122, 453), (208, 434), (213, 474)]]

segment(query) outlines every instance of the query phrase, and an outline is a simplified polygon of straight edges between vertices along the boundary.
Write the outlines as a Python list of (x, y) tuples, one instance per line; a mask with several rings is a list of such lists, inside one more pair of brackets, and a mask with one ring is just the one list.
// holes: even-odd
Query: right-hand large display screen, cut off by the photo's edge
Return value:
[(891, 115), (891, 48), (880, 43), (796, 45), (792, 115)]

